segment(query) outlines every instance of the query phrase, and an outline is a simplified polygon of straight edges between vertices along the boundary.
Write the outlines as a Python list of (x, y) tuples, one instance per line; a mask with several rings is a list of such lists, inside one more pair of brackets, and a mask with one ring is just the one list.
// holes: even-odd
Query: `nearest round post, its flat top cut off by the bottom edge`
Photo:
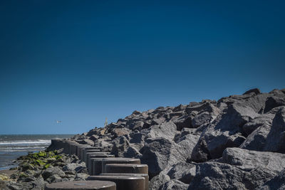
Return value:
[(113, 181), (63, 181), (58, 183), (47, 184), (45, 190), (61, 189), (85, 189), (85, 190), (115, 190), (116, 185)]

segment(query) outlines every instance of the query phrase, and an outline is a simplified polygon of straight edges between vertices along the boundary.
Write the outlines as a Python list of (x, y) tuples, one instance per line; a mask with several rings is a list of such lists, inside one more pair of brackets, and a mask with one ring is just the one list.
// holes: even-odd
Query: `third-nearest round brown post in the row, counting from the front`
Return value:
[(105, 164), (105, 173), (148, 174), (147, 164)]

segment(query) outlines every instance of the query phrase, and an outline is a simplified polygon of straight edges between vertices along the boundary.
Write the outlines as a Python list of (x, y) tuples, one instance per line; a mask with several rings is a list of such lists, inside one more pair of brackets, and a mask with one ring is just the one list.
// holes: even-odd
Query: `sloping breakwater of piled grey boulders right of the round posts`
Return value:
[[(133, 112), (73, 140), (148, 165), (150, 189), (284, 188), (285, 90)], [(278, 181), (274, 183), (274, 181)]]

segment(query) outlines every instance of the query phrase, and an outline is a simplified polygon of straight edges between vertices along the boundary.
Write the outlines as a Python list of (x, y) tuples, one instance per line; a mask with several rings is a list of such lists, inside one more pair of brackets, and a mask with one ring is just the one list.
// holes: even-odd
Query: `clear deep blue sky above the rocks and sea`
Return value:
[(284, 9), (0, 1), (0, 134), (81, 133), (133, 110), (285, 88)]

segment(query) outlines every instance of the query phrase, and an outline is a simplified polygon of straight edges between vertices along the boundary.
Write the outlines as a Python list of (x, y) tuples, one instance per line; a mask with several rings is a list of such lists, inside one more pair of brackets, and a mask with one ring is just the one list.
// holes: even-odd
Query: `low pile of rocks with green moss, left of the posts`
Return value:
[(38, 152), (19, 158), (19, 167), (1, 189), (44, 189), (46, 184), (58, 181), (86, 179), (86, 164), (75, 155)]

